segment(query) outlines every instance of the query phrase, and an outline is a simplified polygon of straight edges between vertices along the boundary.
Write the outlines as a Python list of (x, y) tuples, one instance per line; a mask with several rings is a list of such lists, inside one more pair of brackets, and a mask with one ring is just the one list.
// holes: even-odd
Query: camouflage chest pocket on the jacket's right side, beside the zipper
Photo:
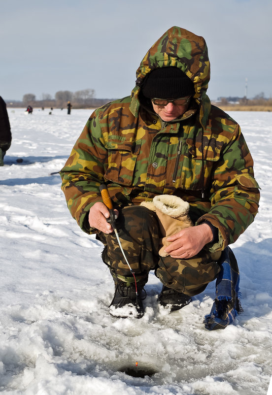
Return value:
[[(186, 141), (186, 149), (183, 157), (181, 170), (180, 188), (188, 190), (200, 190), (211, 186), (211, 174), (220, 159), (220, 149), (217, 147), (197, 147), (191, 139)], [(204, 178), (203, 178), (204, 174)], [(204, 185), (203, 185), (204, 183)]]

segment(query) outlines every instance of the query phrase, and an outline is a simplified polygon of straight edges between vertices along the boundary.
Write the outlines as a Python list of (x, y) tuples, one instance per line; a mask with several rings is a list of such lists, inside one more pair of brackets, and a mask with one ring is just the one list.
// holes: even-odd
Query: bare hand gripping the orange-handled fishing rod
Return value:
[[(114, 213), (118, 217), (118, 211), (114, 210)], [(97, 201), (89, 211), (90, 227), (101, 230), (103, 233), (111, 233), (113, 231), (112, 226), (106, 220), (109, 216), (107, 206), (101, 201)]]

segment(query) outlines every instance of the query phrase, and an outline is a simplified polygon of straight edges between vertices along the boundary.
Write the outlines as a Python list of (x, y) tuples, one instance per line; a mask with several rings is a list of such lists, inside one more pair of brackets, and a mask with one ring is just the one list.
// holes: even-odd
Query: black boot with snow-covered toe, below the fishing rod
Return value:
[[(142, 305), (142, 291), (144, 288), (135, 283), (115, 280), (115, 293), (109, 305), (109, 314), (116, 318), (141, 318), (144, 310)], [(145, 292), (145, 291), (144, 291)]]

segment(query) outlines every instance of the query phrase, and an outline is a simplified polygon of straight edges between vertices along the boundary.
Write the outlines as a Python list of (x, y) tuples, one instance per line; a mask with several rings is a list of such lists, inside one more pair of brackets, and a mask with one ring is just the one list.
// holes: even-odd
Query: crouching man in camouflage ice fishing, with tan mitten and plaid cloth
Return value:
[(242, 311), (229, 244), (253, 222), (259, 187), (239, 125), (206, 95), (209, 77), (204, 38), (170, 28), (140, 63), (131, 96), (93, 112), (61, 170), (71, 215), (104, 245), (114, 317), (142, 317), (150, 270), (170, 310), (216, 279), (207, 329)]

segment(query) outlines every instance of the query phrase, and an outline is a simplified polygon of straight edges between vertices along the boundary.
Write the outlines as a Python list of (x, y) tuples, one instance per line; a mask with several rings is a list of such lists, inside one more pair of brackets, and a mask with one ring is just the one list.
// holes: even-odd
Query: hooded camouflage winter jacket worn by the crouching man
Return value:
[[(193, 104), (170, 123), (140, 93), (145, 76), (164, 66), (179, 67), (195, 85)], [(173, 27), (142, 60), (131, 96), (94, 111), (61, 170), (68, 208), (82, 230), (96, 232), (88, 212), (102, 201), (102, 183), (116, 206), (159, 194), (188, 201), (196, 224), (207, 220), (219, 229), (211, 251), (233, 243), (254, 220), (259, 190), (253, 161), (239, 125), (210, 104), (209, 70), (203, 37)]]

